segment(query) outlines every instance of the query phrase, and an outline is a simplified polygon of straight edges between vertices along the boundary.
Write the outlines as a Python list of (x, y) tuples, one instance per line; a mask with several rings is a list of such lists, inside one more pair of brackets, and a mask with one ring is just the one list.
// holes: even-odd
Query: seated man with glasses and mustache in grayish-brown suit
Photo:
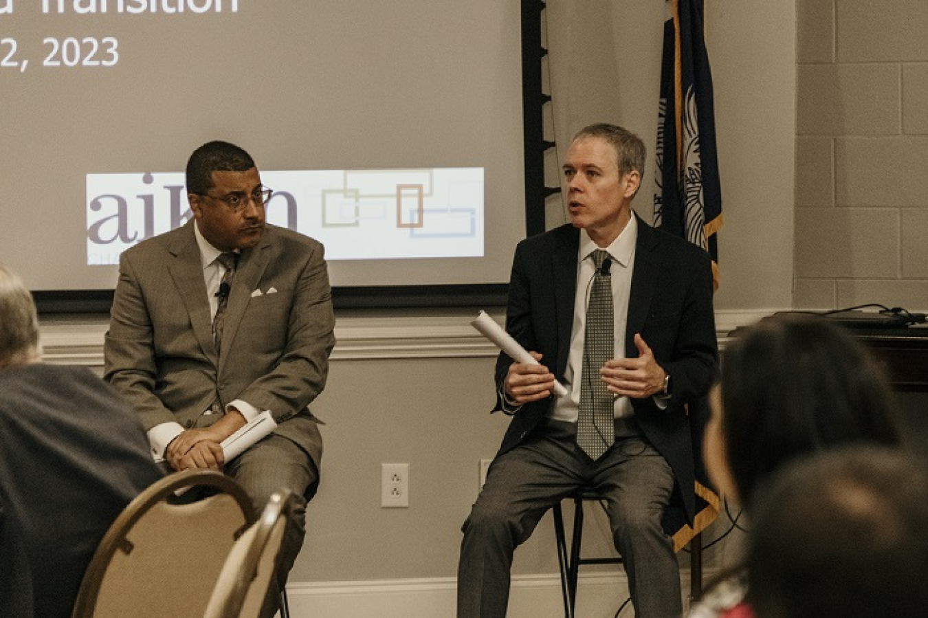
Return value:
[[(122, 253), (106, 336), (106, 380), (133, 403), (152, 453), (174, 470), (224, 468), (261, 509), (300, 496), (281, 582), (303, 544), (322, 438), (307, 406), (335, 344), (323, 247), (266, 225), (271, 190), (226, 142), (187, 162), (186, 225)], [(277, 429), (227, 462), (220, 443), (270, 410)]]

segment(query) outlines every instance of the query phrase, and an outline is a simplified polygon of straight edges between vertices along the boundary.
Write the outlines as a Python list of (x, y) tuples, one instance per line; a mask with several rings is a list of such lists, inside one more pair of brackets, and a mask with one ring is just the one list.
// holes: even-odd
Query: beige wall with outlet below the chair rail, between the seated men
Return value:
[[(323, 483), (295, 582), (450, 576), (460, 525), (506, 419), (491, 418), (493, 357), (337, 361), (314, 406)], [(409, 508), (380, 508), (380, 463), (408, 463)], [(553, 552), (552, 552), (553, 557)], [(556, 565), (556, 563), (555, 563)], [(556, 567), (555, 567), (556, 568)]]

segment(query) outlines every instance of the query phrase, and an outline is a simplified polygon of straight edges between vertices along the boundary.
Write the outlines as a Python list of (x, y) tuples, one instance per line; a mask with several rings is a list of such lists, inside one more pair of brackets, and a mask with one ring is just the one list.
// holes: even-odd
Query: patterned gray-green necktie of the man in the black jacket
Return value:
[(583, 371), (580, 375), (580, 411), (577, 418), (577, 444), (591, 459), (599, 459), (615, 441), (612, 393), (599, 376), (599, 369), (612, 360), (614, 328), (612, 317), (612, 275), (602, 272), (609, 253), (593, 251), (593, 275), (586, 307), (586, 334)]

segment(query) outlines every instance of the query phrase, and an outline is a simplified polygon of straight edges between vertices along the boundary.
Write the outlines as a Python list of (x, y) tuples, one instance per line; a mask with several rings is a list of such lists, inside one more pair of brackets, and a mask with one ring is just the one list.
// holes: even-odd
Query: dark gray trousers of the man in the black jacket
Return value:
[[(463, 526), (458, 618), (506, 615), (515, 548), (528, 539), (545, 511), (585, 484), (606, 500), (635, 615), (672, 618), (683, 612), (673, 539), (661, 527), (674, 488), (670, 466), (640, 435), (617, 437), (593, 461), (577, 446), (575, 434), (573, 423), (549, 420), (494, 460)], [(553, 539), (551, 547), (553, 551)]]

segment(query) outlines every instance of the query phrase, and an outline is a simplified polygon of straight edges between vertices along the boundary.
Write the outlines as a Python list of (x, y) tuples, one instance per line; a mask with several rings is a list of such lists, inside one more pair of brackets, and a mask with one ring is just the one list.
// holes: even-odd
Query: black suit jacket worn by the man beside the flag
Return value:
[[(580, 230), (573, 225), (526, 238), (516, 248), (509, 280), (507, 331), (526, 350), (542, 354), (541, 363), (561, 381), (570, 352), (579, 247)], [(690, 521), (695, 512), (695, 470), (687, 405), (704, 395), (715, 378), (718, 347), (712, 294), (708, 255), (638, 219), (625, 354), (638, 355), (633, 340), (640, 333), (670, 374), (672, 397), (664, 409), (651, 397), (633, 399), (632, 406), (641, 431), (674, 470)], [(496, 361), (497, 393), (511, 363), (506, 354)], [(522, 406), (497, 455), (535, 431), (552, 405), (553, 398), (548, 398)], [(496, 410), (501, 409), (497, 397)]]

